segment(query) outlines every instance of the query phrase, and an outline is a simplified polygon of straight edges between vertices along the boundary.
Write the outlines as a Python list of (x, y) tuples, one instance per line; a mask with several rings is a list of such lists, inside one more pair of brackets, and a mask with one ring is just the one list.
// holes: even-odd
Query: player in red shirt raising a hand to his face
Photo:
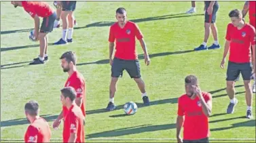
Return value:
[[(211, 135), (208, 117), (212, 111), (212, 96), (202, 92), (195, 75), (185, 77), (185, 91), (178, 99), (177, 141), (180, 142), (209, 142)], [(181, 127), (183, 126), (183, 140)]]

